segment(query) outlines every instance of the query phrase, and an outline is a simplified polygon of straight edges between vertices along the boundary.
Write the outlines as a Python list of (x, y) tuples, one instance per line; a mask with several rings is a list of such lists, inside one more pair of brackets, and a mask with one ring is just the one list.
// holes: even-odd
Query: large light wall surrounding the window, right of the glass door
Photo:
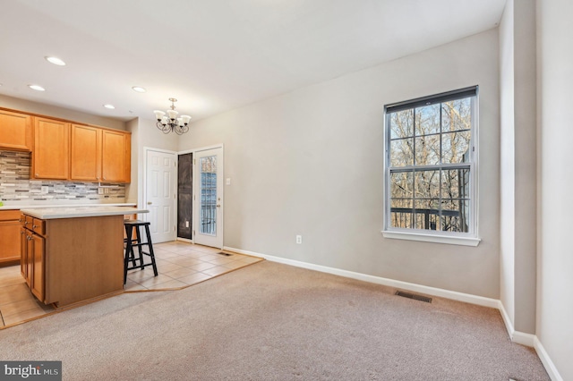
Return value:
[[(225, 144), (227, 247), (498, 299), (498, 63), (489, 30), (192, 123), (179, 150)], [(383, 106), (472, 85), (481, 244), (384, 239)]]

